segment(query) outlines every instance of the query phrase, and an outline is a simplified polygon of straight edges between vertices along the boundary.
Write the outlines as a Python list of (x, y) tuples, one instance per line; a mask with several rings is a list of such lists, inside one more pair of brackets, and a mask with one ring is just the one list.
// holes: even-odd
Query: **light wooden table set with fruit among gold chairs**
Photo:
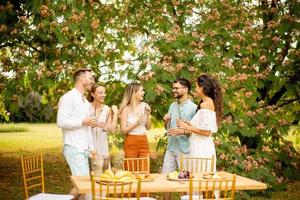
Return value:
[[(228, 172), (218, 172), (218, 175), (232, 176)], [(154, 181), (142, 182), (141, 192), (187, 192), (189, 189), (189, 181), (178, 182), (167, 180), (166, 174), (151, 174), (155, 177)], [(81, 194), (91, 193), (91, 181), (89, 176), (71, 176), (71, 180), (78, 192)], [(236, 176), (236, 190), (265, 190), (265, 183), (255, 181), (243, 176)]]

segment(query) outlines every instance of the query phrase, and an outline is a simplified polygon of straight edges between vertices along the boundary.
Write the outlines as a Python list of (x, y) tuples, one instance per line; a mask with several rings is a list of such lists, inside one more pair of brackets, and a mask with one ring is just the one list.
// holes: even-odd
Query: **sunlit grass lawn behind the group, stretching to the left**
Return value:
[[(29, 131), (0, 133), (0, 199), (23, 199), (20, 156), (40, 152), (44, 155), (46, 192), (67, 194), (72, 186), (69, 179), (70, 172), (61, 152), (61, 130), (55, 124), (22, 126), (28, 127)], [(162, 129), (153, 129), (148, 134), (150, 148), (154, 154), (156, 154), (155, 135), (163, 132)], [(299, 149), (299, 144), (296, 146)], [(299, 182), (289, 184), (288, 190), (289, 192), (274, 193), (271, 199), (300, 199)], [(253, 199), (262, 200), (262, 198)]]

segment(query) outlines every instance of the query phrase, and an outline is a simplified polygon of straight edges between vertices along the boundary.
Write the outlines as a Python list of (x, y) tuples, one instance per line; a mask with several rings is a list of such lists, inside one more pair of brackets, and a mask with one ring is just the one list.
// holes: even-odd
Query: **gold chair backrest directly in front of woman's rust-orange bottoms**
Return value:
[(149, 174), (150, 173), (150, 157), (149, 155), (144, 158), (124, 158), (123, 170), (130, 172), (138, 172)]

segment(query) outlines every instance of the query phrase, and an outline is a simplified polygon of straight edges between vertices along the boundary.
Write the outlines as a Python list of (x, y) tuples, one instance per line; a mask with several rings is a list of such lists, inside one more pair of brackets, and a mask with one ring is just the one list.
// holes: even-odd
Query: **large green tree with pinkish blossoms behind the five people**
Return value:
[(275, 189), (299, 177), (284, 139), (300, 116), (297, 0), (2, 2), (0, 109), (11, 119), (31, 91), (55, 110), (79, 67), (109, 85), (108, 103), (120, 102), (124, 80), (141, 81), (157, 119), (176, 77), (209, 73), (225, 94), (219, 168)]

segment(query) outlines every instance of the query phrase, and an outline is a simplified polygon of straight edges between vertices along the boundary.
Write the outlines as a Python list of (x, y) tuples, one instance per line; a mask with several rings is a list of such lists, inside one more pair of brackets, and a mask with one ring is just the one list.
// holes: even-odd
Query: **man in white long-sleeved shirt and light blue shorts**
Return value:
[[(97, 122), (90, 117), (90, 103), (84, 96), (94, 83), (91, 70), (79, 69), (74, 74), (75, 86), (58, 103), (57, 125), (62, 129), (64, 157), (73, 176), (89, 175), (88, 150), (94, 149), (91, 127)], [(71, 191), (75, 197), (77, 191)]]

